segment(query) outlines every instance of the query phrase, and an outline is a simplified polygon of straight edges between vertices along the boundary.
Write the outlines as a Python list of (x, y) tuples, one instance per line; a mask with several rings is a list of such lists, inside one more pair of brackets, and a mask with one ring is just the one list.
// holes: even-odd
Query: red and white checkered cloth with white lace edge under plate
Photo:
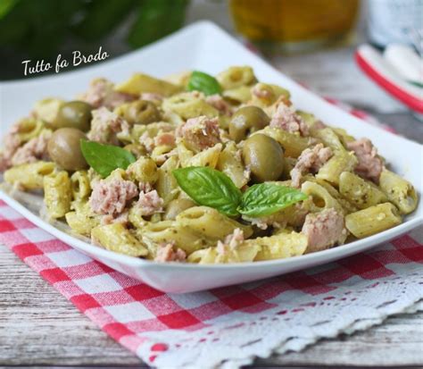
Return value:
[(423, 299), (422, 236), (420, 228), (336, 263), (175, 295), (92, 260), (0, 201), (0, 244), (114, 340), (159, 367), (236, 367), (380, 323)]

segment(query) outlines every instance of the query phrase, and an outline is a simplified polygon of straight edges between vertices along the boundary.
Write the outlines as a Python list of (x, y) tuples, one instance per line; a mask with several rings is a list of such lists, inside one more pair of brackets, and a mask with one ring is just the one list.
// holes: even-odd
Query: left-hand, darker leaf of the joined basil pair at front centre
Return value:
[(222, 172), (206, 166), (176, 169), (173, 175), (181, 189), (197, 204), (213, 207), (222, 214), (236, 216), (241, 203), (241, 191)]

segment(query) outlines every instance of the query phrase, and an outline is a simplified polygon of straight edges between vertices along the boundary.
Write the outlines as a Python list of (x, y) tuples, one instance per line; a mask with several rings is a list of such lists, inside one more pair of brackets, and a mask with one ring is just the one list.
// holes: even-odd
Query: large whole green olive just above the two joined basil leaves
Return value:
[(255, 182), (278, 180), (284, 172), (284, 150), (278, 141), (261, 133), (245, 140), (243, 159)]

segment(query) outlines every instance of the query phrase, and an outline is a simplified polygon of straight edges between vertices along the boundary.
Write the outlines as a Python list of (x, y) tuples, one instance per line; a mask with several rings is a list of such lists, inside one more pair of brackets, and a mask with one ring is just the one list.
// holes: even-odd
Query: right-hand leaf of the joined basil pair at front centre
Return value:
[(245, 191), (237, 210), (241, 214), (254, 217), (270, 215), (306, 198), (307, 195), (298, 189), (275, 183), (261, 183)]

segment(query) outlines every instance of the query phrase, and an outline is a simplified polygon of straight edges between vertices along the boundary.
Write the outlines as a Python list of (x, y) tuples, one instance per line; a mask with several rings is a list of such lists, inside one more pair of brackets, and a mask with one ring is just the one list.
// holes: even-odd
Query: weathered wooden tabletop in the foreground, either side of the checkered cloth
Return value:
[[(0, 247), (1, 365), (142, 365), (6, 247)], [(423, 313), (256, 365), (423, 365)]]

